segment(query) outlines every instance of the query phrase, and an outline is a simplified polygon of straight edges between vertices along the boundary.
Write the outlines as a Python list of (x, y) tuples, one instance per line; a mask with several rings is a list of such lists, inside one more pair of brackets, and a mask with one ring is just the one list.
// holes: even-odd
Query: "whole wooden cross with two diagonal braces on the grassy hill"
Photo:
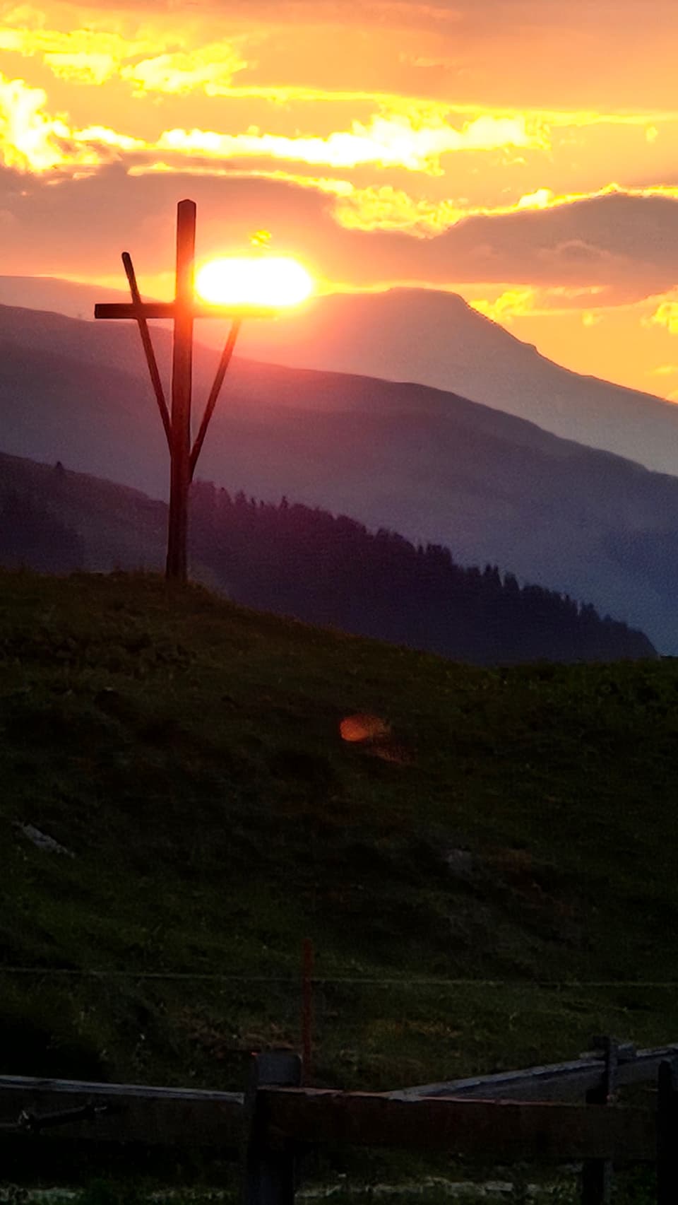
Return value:
[[(123, 264), (128, 277), (131, 302), (96, 305), (95, 318), (131, 318), (137, 323), (151, 374), (155, 400), (165, 428), (170, 448), (170, 516), (167, 524), (166, 577), (187, 580), (188, 493), (195, 472), (200, 449), (205, 441), (210, 419), (243, 318), (271, 318), (277, 312), (270, 306), (218, 306), (201, 305), (195, 300), (195, 201), (179, 201), (177, 206), (177, 276), (173, 301), (142, 301), (130, 254), (123, 252)], [(158, 363), (153, 351), (149, 318), (171, 318), (172, 335), (172, 389), (171, 408), (167, 408)], [(193, 394), (193, 330), (196, 318), (230, 318), (231, 328), (222, 352), (214, 383), (210, 390), (197, 435), (191, 445), (190, 408)]]

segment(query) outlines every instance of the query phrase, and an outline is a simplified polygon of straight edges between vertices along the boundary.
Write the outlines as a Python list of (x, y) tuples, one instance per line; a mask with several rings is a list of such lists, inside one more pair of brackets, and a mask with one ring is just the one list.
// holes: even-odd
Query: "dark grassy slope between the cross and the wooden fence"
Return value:
[(241, 1086), (299, 1042), (306, 935), (317, 1082), (678, 1038), (674, 663), (479, 670), (30, 574), (0, 656), (5, 1074)]

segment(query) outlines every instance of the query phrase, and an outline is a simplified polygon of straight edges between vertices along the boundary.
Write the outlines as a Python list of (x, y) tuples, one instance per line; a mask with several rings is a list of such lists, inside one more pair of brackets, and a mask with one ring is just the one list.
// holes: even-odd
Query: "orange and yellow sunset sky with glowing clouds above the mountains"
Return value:
[[(265, 231), (678, 400), (676, 0), (0, 5), (4, 275), (169, 295)], [(270, 239), (269, 239), (270, 235)], [(261, 241), (261, 240), (259, 240)]]

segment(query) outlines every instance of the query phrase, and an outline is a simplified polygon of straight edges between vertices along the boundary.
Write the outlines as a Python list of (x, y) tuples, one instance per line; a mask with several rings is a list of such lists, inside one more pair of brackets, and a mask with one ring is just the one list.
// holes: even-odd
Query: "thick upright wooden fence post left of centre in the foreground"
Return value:
[(265, 1117), (258, 1099), (259, 1088), (299, 1088), (301, 1059), (290, 1051), (266, 1051), (252, 1060), (249, 1087), (244, 1098), (246, 1151), (243, 1205), (294, 1205), (296, 1154), (289, 1142), (275, 1148), (266, 1141)]

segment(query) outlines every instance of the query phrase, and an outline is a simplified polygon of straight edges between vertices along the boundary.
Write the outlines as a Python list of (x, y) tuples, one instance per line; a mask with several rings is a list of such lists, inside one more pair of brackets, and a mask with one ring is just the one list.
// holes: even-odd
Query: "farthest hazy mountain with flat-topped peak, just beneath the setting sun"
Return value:
[[(120, 274), (122, 275), (122, 274)], [(92, 316), (113, 290), (0, 277), (0, 301)], [(212, 323), (200, 337), (218, 341)], [(243, 354), (291, 366), (415, 381), (518, 415), (546, 430), (678, 475), (678, 413), (661, 398), (582, 376), (434, 289), (335, 294), (276, 322), (246, 323)]]

